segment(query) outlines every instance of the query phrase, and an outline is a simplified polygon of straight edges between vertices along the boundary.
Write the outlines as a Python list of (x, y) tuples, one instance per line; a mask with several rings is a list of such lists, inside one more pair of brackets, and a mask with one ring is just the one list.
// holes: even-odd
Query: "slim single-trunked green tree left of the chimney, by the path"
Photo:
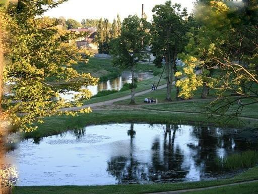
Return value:
[(128, 16), (122, 23), (121, 35), (110, 42), (110, 54), (113, 64), (122, 68), (130, 68), (132, 73), (131, 103), (135, 104), (135, 66), (137, 62), (146, 58), (145, 46), (149, 43), (147, 33), (148, 22), (135, 16)]

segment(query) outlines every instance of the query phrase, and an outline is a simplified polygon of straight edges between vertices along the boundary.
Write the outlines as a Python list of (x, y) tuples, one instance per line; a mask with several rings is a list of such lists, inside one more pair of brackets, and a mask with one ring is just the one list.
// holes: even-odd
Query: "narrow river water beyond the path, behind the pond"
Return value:
[[(138, 78), (138, 81), (143, 81), (153, 77), (153, 72), (136, 72), (135, 77)], [(132, 82), (132, 74), (129, 71), (123, 71), (121, 76), (115, 79), (109, 79), (107, 81), (101, 81), (98, 85), (90, 85), (87, 87), (82, 86), (82, 88), (87, 88), (91, 91), (92, 95), (96, 95), (99, 91), (102, 90), (120, 90), (124, 83)], [(151, 85), (151, 83), (150, 83)], [(151, 86), (150, 86), (151, 87)], [(75, 94), (79, 92), (68, 91), (67, 93), (60, 93), (60, 97), (64, 100), (71, 101)]]

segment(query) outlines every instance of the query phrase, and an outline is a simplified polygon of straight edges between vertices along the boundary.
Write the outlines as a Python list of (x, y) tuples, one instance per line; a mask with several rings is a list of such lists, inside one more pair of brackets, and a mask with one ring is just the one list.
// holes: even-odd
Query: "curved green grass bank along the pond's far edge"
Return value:
[[(158, 115), (158, 116), (157, 116)], [(94, 111), (90, 114), (79, 114), (76, 117), (72, 116), (52, 116), (45, 118), (45, 123), (37, 124), (38, 129), (36, 131), (25, 133), (25, 137), (44, 137), (59, 134), (61, 132), (79, 129), (91, 124), (102, 124), (102, 123), (124, 123), (124, 122), (146, 122), (146, 123), (173, 123), (173, 124), (192, 124), (198, 126), (214, 125), (214, 126), (225, 126), (223, 119), (207, 120), (207, 115), (195, 115), (195, 114), (181, 114), (174, 113), (168, 114), (167, 112), (159, 111), (148, 111), (146, 110), (102, 110)], [(243, 122), (239, 123), (236, 120), (231, 120), (228, 127), (238, 127), (242, 130), (248, 128), (255, 128), (257, 121), (244, 119)]]

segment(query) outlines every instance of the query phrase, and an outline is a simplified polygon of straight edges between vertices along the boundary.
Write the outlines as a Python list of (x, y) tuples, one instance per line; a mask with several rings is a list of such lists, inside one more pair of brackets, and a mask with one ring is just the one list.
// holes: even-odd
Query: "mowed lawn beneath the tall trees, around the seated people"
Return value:
[[(186, 112), (186, 113), (204, 113), (211, 114), (211, 110), (215, 110), (218, 106), (221, 106), (221, 103), (217, 103), (216, 96), (211, 94), (207, 99), (201, 99), (201, 89), (196, 92), (196, 95), (193, 99), (190, 100), (181, 100), (178, 101), (175, 99), (176, 90), (173, 86), (171, 91), (172, 102), (166, 101), (166, 88), (160, 89), (157, 91), (150, 91), (146, 94), (139, 95), (135, 97), (136, 103), (138, 105), (143, 105), (142, 108), (147, 110), (156, 110), (156, 111), (170, 111), (170, 112)], [(158, 100), (158, 104), (146, 104), (144, 103), (145, 98), (153, 98)], [(235, 97), (232, 96), (231, 99)], [(116, 105), (128, 105), (130, 99), (118, 101), (114, 104)], [(249, 104), (251, 102), (258, 102), (258, 98), (243, 99), (243, 105)], [(215, 105), (213, 108), (212, 106)], [(232, 114), (237, 111), (238, 108), (241, 108), (241, 105), (237, 104), (237, 101), (232, 104), (232, 106), (227, 111), (227, 114)], [(243, 107), (240, 117), (249, 117), (249, 118), (258, 118), (258, 103), (246, 105)]]

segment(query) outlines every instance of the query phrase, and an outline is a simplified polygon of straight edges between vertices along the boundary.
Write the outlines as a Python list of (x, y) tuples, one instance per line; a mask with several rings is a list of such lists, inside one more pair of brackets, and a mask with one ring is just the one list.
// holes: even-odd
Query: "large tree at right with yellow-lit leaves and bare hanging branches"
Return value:
[[(212, 1), (199, 7), (196, 18), (201, 25), (187, 45), (190, 52), (185, 55), (185, 70), (192, 75), (190, 71), (198, 65), (204, 71), (191, 83), (179, 81), (180, 95), (189, 98), (200, 83), (209, 86), (218, 96), (210, 107), (211, 114), (220, 114), (229, 121), (241, 114), (244, 106), (258, 103), (257, 2), (255, 6), (245, 3), (239, 7)], [(194, 55), (197, 52), (200, 54)]]

